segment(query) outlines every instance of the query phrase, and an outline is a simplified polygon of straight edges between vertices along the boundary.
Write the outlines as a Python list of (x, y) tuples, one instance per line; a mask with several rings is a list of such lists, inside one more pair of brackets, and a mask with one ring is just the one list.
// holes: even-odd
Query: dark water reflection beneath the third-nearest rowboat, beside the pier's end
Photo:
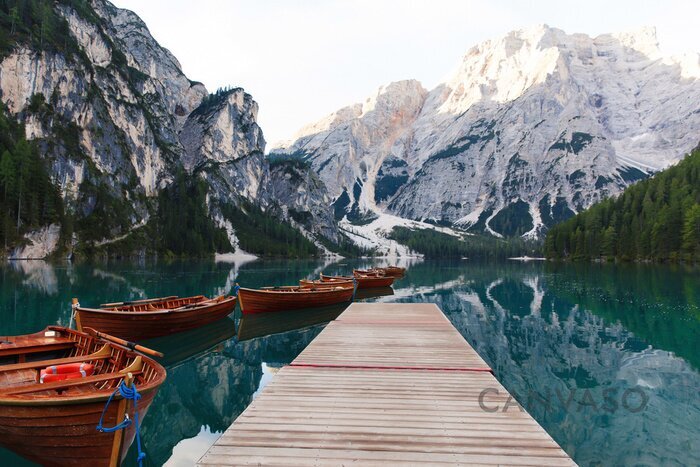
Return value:
[(340, 303), (302, 310), (243, 315), (238, 323), (238, 340), (246, 341), (327, 323), (336, 319), (348, 306), (348, 303)]

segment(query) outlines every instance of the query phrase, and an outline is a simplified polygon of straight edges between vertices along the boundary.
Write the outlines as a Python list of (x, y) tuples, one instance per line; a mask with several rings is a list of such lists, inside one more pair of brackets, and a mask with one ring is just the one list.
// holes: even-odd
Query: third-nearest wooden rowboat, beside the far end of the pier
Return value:
[(335, 284), (312, 287), (241, 288), (238, 291), (238, 300), (243, 314), (250, 314), (316, 308), (351, 302), (354, 293), (354, 287)]

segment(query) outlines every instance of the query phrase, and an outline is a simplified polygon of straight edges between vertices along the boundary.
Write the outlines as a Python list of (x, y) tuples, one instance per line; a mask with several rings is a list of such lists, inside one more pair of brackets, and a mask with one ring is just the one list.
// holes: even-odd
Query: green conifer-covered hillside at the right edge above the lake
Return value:
[(700, 148), (678, 165), (553, 227), (554, 259), (700, 261)]

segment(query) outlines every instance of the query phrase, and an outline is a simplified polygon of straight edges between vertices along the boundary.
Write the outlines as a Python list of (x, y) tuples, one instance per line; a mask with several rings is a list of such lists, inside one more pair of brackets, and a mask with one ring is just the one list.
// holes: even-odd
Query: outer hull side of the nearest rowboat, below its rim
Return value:
[[(141, 393), (138, 401), (139, 423), (153, 401), (158, 387)], [(118, 423), (120, 398), (109, 405), (103, 425)], [(66, 405), (45, 405), (27, 401), (6, 405), (0, 402), (0, 445), (20, 456), (47, 466), (109, 466), (112, 459), (114, 433), (97, 431), (107, 396), (90, 402)], [(131, 402), (127, 412), (133, 420)], [(121, 421), (121, 420), (119, 420)], [(124, 458), (136, 434), (134, 424), (124, 430), (117, 465)]]

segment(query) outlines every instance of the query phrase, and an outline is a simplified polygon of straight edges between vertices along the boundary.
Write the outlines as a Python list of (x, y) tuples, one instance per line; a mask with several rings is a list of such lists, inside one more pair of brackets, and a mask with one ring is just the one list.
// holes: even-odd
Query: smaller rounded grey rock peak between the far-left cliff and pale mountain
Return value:
[(238, 88), (209, 98), (184, 123), (182, 162), (207, 180), (210, 209), (226, 225), (221, 207), (244, 198), (312, 237), (337, 241), (326, 186), (303, 165), (271, 166), (257, 113), (257, 103)]

